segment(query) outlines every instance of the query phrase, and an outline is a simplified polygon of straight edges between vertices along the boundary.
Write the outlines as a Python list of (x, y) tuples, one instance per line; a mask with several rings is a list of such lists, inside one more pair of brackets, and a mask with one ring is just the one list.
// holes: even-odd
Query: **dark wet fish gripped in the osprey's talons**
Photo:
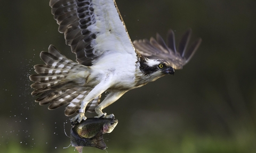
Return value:
[(103, 134), (110, 133), (118, 123), (116, 118), (87, 118), (74, 124), (70, 131), (71, 146), (81, 153), (83, 147), (106, 149)]

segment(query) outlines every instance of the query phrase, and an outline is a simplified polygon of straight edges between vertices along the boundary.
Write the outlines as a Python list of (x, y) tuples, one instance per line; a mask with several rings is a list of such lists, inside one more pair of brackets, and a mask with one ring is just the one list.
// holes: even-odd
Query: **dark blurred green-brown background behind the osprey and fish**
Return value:
[[(108, 152), (255, 152), (256, 1), (116, 0), (132, 40), (177, 42), (193, 29), (202, 45), (174, 76), (127, 92), (106, 108), (119, 123), (104, 138)], [(71, 117), (47, 110), (30, 95), (33, 66), (50, 44), (75, 60), (53, 19), (49, 1), (1, 1), (0, 150), (71, 152)], [(94, 114), (87, 114), (94, 116)], [(84, 148), (84, 152), (106, 152)]]

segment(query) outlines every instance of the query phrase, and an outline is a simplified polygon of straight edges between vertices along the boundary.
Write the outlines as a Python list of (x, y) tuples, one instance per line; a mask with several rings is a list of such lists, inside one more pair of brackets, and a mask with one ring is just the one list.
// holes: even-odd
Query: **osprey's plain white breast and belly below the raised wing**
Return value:
[(98, 79), (111, 75), (113, 88), (133, 88), (136, 62), (137, 59), (134, 59), (131, 54), (107, 51), (93, 61), (91, 75), (98, 76)]

